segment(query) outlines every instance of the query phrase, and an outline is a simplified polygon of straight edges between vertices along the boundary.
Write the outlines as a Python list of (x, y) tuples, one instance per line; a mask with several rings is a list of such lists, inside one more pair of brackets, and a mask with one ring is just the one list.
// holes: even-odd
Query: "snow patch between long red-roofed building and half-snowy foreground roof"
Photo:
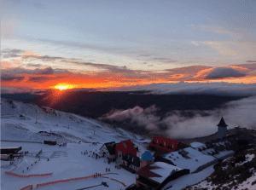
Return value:
[[(190, 173), (198, 169), (201, 165), (212, 162), (215, 158), (209, 155), (205, 155), (194, 148), (187, 147), (183, 149), (188, 152), (187, 156), (189, 158), (183, 158), (178, 152), (172, 152), (166, 154), (165, 158), (172, 161), (173, 164), (181, 167), (183, 169), (189, 169)], [(175, 158), (175, 159), (174, 159)], [(197, 159), (198, 161), (196, 161)]]

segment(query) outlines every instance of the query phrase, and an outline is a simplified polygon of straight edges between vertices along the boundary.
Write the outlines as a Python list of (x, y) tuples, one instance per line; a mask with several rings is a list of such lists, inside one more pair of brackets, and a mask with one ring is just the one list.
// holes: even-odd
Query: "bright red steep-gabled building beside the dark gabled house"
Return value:
[(120, 141), (115, 147), (115, 158), (123, 158), (126, 153), (131, 153), (131, 155), (137, 156), (137, 150), (131, 140)]

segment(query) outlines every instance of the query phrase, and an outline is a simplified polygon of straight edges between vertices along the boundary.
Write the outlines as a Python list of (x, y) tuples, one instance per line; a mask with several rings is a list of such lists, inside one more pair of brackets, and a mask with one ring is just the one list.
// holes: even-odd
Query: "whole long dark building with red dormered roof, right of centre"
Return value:
[(154, 153), (154, 158), (164, 153), (171, 153), (180, 148), (189, 147), (188, 145), (183, 144), (180, 141), (175, 141), (172, 139), (168, 139), (166, 137), (162, 137), (159, 135), (155, 135), (152, 141), (149, 143), (149, 148), (151, 150), (156, 151)]

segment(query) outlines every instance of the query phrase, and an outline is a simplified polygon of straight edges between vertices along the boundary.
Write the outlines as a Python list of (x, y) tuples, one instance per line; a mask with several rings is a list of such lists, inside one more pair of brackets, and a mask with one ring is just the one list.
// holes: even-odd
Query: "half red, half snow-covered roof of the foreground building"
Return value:
[(172, 175), (172, 170), (183, 170), (177, 166), (166, 164), (163, 162), (155, 162), (154, 164), (149, 164), (142, 169), (137, 171), (137, 175), (143, 176), (152, 181), (161, 183), (166, 180), (168, 176)]

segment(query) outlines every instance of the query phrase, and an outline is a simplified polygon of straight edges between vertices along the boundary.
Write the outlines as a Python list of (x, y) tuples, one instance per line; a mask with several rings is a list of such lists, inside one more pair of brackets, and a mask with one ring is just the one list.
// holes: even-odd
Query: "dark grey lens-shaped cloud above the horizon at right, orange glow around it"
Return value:
[(209, 72), (206, 76), (207, 79), (216, 79), (216, 78), (241, 78), (245, 77), (246, 74), (237, 71), (236, 69), (230, 67), (217, 67)]

